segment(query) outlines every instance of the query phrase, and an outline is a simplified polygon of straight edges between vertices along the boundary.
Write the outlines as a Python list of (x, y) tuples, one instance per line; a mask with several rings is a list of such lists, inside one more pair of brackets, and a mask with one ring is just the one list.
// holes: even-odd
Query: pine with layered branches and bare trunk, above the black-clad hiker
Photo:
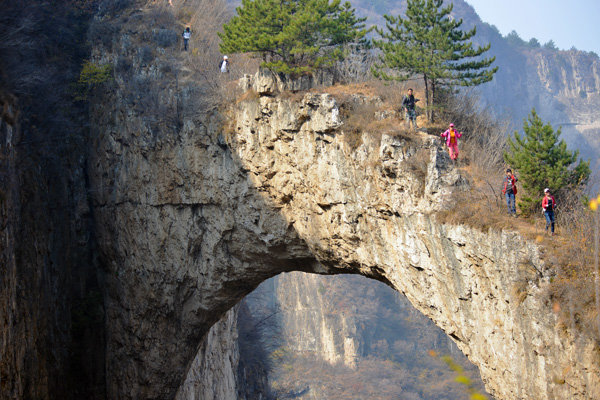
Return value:
[(384, 80), (407, 80), (420, 75), (425, 82), (427, 118), (433, 122), (436, 91), (443, 87), (475, 86), (489, 82), (498, 67), (490, 68), (495, 57), (481, 58), (490, 44), (473, 48), (469, 41), (476, 28), (458, 29), (461, 20), (450, 17), (453, 5), (443, 0), (408, 0), (406, 18), (384, 15), (386, 29), (375, 28), (381, 36), (373, 44), (382, 50), (373, 75)]

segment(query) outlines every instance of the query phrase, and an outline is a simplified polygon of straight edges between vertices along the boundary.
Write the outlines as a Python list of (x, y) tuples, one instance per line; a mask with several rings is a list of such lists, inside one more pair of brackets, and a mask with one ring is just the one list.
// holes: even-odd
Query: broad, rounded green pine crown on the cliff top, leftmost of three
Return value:
[(340, 0), (242, 0), (219, 33), (221, 52), (253, 53), (275, 72), (302, 74), (343, 58), (342, 46), (367, 31), (350, 3)]

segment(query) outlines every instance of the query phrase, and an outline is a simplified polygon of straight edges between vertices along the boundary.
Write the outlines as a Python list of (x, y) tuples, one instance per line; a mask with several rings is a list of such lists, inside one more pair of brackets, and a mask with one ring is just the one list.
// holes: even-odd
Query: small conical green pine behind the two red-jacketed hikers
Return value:
[(560, 196), (583, 186), (591, 170), (590, 162), (581, 159), (573, 166), (579, 151), (569, 151), (565, 141), (559, 141), (560, 128), (544, 125), (535, 108), (523, 121), (523, 131), (523, 137), (515, 132), (514, 140), (508, 139), (510, 152), (504, 153), (504, 160), (518, 171), (524, 189), (519, 206), (527, 214), (541, 204), (544, 188)]

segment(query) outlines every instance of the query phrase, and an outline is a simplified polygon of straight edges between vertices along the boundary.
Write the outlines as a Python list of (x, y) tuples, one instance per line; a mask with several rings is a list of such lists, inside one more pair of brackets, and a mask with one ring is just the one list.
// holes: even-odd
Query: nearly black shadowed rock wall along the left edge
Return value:
[(24, 131), (15, 96), (1, 93), (0, 109), (1, 397), (103, 398), (83, 141)]

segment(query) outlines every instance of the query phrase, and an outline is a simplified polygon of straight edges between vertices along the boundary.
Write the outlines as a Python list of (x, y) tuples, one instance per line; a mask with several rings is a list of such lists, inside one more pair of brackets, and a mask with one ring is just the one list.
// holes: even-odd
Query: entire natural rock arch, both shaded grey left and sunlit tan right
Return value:
[(122, 111), (96, 110), (90, 149), (111, 398), (173, 398), (209, 327), (291, 270), (387, 282), (497, 398), (597, 396), (593, 344), (556, 329), (539, 250), (436, 221), (464, 181), (435, 138), (363, 132), (352, 150), (326, 93), (250, 96), (225, 141), (191, 121), (152, 137)]

